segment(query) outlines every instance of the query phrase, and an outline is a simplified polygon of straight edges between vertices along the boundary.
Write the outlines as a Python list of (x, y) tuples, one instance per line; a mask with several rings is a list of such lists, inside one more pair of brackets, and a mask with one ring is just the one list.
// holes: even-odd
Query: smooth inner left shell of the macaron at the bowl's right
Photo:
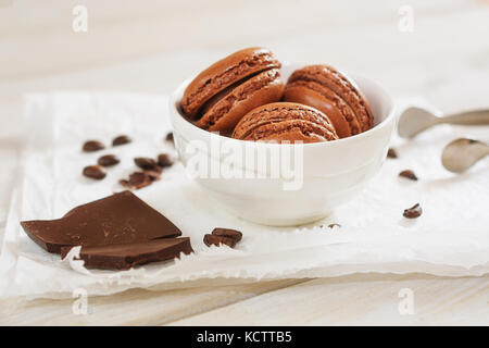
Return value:
[[(341, 111), (335, 105), (335, 102), (314, 89), (308, 88), (306, 86), (289, 85), (284, 92), (284, 101), (298, 102), (319, 110), (331, 121), (340, 138), (352, 135), (350, 124)], [(354, 121), (356, 122), (356, 119)], [(359, 125), (358, 128), (360, 128)]]

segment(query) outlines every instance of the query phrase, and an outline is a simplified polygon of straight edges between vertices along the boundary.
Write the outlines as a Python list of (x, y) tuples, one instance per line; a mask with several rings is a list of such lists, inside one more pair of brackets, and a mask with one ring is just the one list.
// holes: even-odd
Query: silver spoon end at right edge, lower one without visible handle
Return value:
[(460, 138), (447, 145), (441, 163), (450, 172), (462, 173), (489, 154), (489, 146), (479, 140)]

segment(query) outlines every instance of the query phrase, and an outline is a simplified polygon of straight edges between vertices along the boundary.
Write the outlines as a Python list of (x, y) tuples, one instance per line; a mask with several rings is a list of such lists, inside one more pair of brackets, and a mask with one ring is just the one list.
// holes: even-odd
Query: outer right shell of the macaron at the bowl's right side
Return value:
[(305, 66), (293, 72), (288, 83), (296, 80), (314, 82), (331, 89), (355, 112), (362, 132), (373, 127), (374, 117), (365, 96), (359, 90), (353, 80), (334, 67), (329, 65)]

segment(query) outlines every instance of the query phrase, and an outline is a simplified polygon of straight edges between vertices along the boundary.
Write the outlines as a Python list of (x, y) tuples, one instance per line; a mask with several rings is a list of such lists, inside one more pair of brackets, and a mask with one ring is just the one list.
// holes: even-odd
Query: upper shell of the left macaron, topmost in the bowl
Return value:
[(280, 67), (280, 62), (264, 48), (248, 48), (235, 52), (201, 72), (186, 88), (180, 105), (185, 114), (195, 117), (213, 96), (247, 76)]

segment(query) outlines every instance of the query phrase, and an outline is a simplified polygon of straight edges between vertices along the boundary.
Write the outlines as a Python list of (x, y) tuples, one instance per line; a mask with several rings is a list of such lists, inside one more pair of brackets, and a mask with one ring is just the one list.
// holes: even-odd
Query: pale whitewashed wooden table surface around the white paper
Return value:
[[(88, 11), (86, 33), (73, 30), (76, 4)], [(0, 240), (21, 137), (28, 136), (20, 122), (25, 92), (170, 94), (216, 59), (265, 46), (284, 60), (327, 62), (452, 111), (489, 107), (488, 38), (489, 1), (480, 0), (0, 0)], [(399, 311), (405, 288), (411, 314)], [(86, 315), (75, 315), (73, 302), (2, 300), (0, 324), (488, 325), (489, 276), (354, 274), (133, 289), (88, 298)]]

